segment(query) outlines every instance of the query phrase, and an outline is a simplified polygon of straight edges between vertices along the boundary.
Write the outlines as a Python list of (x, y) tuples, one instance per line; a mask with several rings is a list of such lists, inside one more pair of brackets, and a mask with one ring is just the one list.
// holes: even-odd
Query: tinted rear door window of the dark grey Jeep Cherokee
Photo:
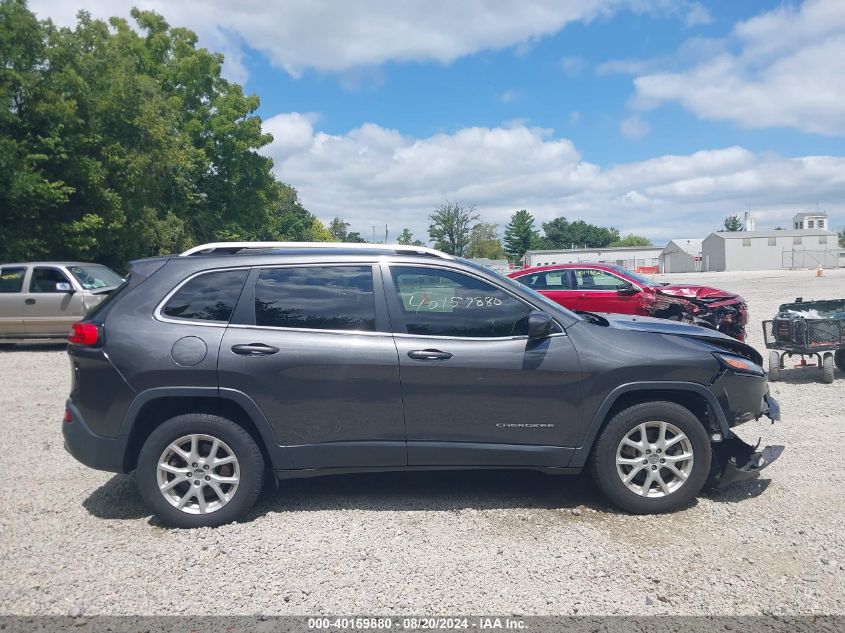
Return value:
[(255, 284), (255, 324), (312, 330), (376, 329), (371, 266), (268, 268)]

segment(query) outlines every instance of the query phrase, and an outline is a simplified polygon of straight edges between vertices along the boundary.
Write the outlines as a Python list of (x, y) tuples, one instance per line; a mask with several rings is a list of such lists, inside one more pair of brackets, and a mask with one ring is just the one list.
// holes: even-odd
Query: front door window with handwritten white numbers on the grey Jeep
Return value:
[(408, 334), (526, 336), (531, 307), (486, 281), (439, 268), (392, 266)]

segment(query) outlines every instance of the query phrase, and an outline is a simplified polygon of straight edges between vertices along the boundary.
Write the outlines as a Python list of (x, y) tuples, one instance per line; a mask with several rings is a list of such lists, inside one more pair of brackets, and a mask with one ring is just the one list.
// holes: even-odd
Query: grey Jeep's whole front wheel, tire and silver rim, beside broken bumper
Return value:
[(616, 414), (599, 436), (590, 466), (614, 505), (656, 514), (692, 501), (710, 460), (710, 440), (699, 419), (674, 402), (657, 401)]

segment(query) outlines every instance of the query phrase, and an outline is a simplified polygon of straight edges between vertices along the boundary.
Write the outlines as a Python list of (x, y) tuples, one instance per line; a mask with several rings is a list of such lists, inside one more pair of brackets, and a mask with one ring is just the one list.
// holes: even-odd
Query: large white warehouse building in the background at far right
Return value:
[(824, 229), (719, 231), (701, 244), (701, 269), (776, 270), (815, 268), (819, 264), (833, 267), (842, 265), (841, 252), (836, 233)]

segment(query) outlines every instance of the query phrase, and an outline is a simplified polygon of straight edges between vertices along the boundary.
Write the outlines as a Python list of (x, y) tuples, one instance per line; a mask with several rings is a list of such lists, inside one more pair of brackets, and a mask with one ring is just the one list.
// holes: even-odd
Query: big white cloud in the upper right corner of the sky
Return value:
[[(748, 128), (845, 135), (845, 2), (782, 5), (738, 23), (728, 44), (738, 52), (637, 77), (633, 105), (677, 102), (700, 118)], [(621, 70), (615, 64), (603, 68)]]

